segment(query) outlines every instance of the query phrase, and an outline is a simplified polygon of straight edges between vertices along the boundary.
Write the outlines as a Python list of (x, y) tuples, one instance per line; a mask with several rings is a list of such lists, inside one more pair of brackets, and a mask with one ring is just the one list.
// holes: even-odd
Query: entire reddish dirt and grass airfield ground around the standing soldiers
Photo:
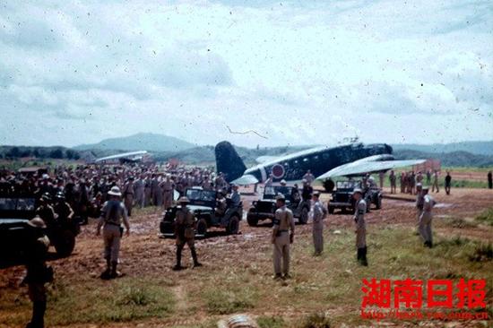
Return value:
[[(323, 194), (324, 202), (328, 196)], [(362, 278), (424, 281), (448, 276), (454, 280), (487, 279), (491, 318), (492, 262), (474, 263), (468, 256), (475, 247), (493, 239), (493, 227), (475, 220), (493, 206), (493, 191), (453, 189), (451, 195), (441, 191), (433, 196), (438, 201), (433, 249), (424, 248), (414, 234), (414, 203), (385, 198), (381, 210), (367, 215), (368, 268), (359, 267), (354, 258), (352, 216), (336, 212), (324, 222), (322, 256), (312, 256), (311, 224), (297, 225), (293, 277), (283, 282), (272, 281), (270, 227), (252, 228), (246, 220), (236, 236), (211, 230), (209, 237), (196, 241), (203, 267), (173, 272), (174, 240), (158, 237), (161, 211), (155, 208), (135, 211), (131, 217), (131, 235), (122, 240), (120, 270), (125, 276), (101, 281), (102, 240), (95, 237), (95, 221), (91, 220), (82, 227), (74, 254), (50, 261), (56, 282), (49, 288), (48, 327), (213, 327), (219, 319), (235, 313), (252, 315), (262, 326), (272, 327), (296, 326), (312, 313), (324, 313), (333, 326), (491, 324), (377, 323), (359, 317)], [(256, 198), (243, 196), (245, 213)], [(188, 257), (186, 248), (186, 266), (191, 265)], [(19, 287), (23, 275), (22, 266), (0, 270), (0, 327), (22, 327), (29, 321), (26, 288)], [(116, 314), (115, 308), (119, 308)]]

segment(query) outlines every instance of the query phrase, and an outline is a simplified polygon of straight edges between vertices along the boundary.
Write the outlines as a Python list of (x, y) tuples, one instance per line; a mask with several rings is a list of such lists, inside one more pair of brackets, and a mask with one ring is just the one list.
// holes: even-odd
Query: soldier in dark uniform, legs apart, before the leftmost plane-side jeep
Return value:
[(194, 267), (202, 266), (197, 260), (197, 253), (195, 251), (194, 214), (186, 207), (190, 202), (188, 198), (180, 197), (178, 203), (180, 203), (181, 208), (177, 210), (177, 219), (175, 220), (175, 234), (177, 235), (177, 264), (173, 267), (175, 271), (183, 269), (183, 266), (181, 266), (181, 253), (185, 244), (188, 245), (190, 253), (192, 253)]

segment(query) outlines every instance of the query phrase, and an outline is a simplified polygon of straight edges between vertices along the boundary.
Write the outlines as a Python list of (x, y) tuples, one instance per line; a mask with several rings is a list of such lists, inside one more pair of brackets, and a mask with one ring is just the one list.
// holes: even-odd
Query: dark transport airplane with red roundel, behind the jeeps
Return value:
[(356, 176), (417, 165), (425, 160), (394, 160), (392, 147), (386, 143), (349, 142), (335, 147), (322, 146), (298, 151), (279, 158), (263, 157), (264, 162), (247, 168), (229, 142), (215, 147), (216, 166), (230, 183), (263, 183), (272, 174), (274, 181), (298, 181), (309, 169), (316, 179)]

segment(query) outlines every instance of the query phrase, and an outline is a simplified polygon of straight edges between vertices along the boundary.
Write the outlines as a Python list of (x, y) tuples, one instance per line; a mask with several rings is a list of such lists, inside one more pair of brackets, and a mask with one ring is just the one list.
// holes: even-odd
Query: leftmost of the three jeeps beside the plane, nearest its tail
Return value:
[[(218, 211), (218, 193), (214, 190), (204, 190), (202, 187), (186, 189), (186, 198), (190, 201), (186, 207), (195, 217), (195, 237), (205, 237), (207, 229), (219, 227), (226, 229), (231, 235), (238, 234), (239, 221), (243, 216), (243, 204), (240, 202), (235, 206), (226, 199), (226, 211)], [(170, 207), (164, 212), (160, 221), (161, 237), (175, 237), (175, 219), (180, 205)]]

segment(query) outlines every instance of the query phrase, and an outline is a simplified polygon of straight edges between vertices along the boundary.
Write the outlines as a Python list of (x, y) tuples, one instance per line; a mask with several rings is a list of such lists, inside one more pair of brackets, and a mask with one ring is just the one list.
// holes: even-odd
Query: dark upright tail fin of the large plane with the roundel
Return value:
[(224, 173), (226, 181), (231, 182), (243, 176), (247, 167), (231, 143), (219, 142), (216, 144), (215, 153), (217, 171)]

